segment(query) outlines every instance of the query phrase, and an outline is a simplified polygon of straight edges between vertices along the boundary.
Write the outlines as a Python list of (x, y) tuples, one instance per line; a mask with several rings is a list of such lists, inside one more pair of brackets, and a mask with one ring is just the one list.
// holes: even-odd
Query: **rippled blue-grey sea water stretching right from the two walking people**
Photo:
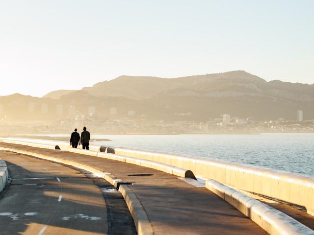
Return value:
[(115, 147), (201, 156), (314, 176), (314, 134), (94, 135)]

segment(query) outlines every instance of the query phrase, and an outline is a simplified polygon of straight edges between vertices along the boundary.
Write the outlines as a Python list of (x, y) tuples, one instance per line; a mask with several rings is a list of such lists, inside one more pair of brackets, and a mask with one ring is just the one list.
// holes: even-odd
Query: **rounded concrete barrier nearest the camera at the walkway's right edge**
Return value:
[(287, 214), (255, 200), (215, 180), (206, 181), (206, 188), (248, 216), (270, 235), (314, 235), (314, 231)]

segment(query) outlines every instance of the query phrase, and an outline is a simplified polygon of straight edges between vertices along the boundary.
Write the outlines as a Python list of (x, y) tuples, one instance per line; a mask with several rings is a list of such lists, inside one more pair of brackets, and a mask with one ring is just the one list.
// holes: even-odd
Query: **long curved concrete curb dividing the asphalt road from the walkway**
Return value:
[[(23, 150), (23, 149), (6, 148), (6, 147), (0, 147), (0, 149), (5, 150), (5, 151), (12, 151), (12, 152), (16, 152), (16, 153), (26, 154), (26, 155), (30, 155), (30, 156), (33, 156), (36, 158), (49, 160), (49, 161), (56, 162), (56, 163), (71, 165), (71, 166), (74, 166), (74, 167), (77, 167), (77, 168), (80, 168), (83, 170), (87, 170), (87, 171), (92, 172), (93, 174), (95, 174), (99, 177), (104, 178), (106, 181), (108, 181), (111, 185), (115, 186), (116, 188), (117, 188), (117, 183), (122, 182), (121, 179), (118, 179), (117, 177), (113, 176), (109, 172), (104, 172), (99, 168), (96, 168), (96, 167), (93, 167), (93, 166), (90, 166), (87, 164), (81, 164), (81, 163), (76, 162), (76, 161), (51, 157), (51, 156), (47, 156), (45, 154), (34, 153), (34, 152)], [(0, 162), (0, 164), (1, 164), (1, 162)], [(128, 187), (127, 185), (119, 185), (119, 191), (123, 195), (123, 197), (127, 203), (127, 206), (130, 210), (131, 216), (134, 220), (137, 234), (138, 235), (153, 235), (154, 234), (153, 229), (152, 229), (152, 226), (148, 220), (147, 214), (146, 214), (144, 208), (142, 207), (142, 205), (140, 204), (140, 202), (138, 201), (136, 195), (131, 190), (131, 188)]]

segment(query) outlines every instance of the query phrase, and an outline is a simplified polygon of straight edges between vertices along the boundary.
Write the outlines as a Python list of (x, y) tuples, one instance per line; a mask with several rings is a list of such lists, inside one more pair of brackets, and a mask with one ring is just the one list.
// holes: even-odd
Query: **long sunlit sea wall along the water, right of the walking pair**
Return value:
[(202, 157), (105, 146), (101, 149), (108, 149), (109, 152), (122, 156), (189, 169), (196, 177), (214, 179), (233, 188), (299, 206), (314, 214), (314, 177), (311, 176)]

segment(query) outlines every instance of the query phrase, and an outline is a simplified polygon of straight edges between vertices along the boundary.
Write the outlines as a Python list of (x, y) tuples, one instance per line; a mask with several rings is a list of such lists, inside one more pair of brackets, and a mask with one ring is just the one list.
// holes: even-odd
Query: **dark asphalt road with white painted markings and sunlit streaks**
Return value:
[(0, 235), (134, 235), (122, 195), (88, 172), (0, 151), (12, 182), (0, 196)]

